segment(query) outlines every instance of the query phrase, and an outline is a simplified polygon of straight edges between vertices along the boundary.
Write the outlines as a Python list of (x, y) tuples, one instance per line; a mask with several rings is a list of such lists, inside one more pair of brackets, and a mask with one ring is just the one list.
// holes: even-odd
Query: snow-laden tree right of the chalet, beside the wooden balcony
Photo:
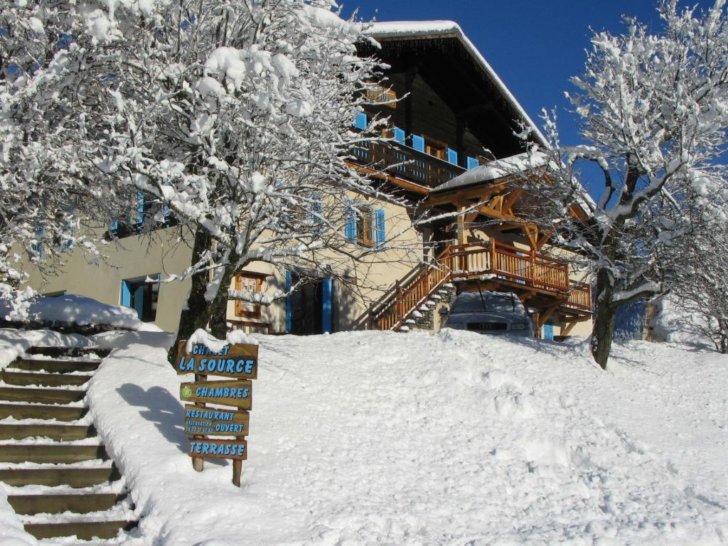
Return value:
[[(705, 181), (727, 180), (724, 1), (700, 12), (669, 0), (658, 10), (659, 32), (627, 20), (624, 34), (593, 37), (585, 74), (572, 79), (578, 91), (570, 96), (589, 145), (563, 146), (551, 114), (545, 115), (550, 149), (530, 150), (538, 165), (550, 165), (525, 183), (537, 191), (535, 219), (546, 218), (545, 229), (555, 219), (556, 240), (593, 274), (592, 353), (603, 368), (617, 307), (666, 290), (672, 248), (697, 250), (695, 221), (723, 214), (710, 192), (726, 186), (708, 189)], [(602, 187), (593, 188), (598, 202), (577, 180), (581, 162), (601, 169)]]

